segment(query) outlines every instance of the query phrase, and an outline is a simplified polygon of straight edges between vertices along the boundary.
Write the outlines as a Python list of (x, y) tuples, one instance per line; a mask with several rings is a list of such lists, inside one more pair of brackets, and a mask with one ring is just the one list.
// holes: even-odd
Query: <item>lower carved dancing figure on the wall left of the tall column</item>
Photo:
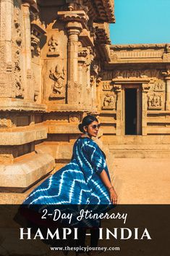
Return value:
[(49, 78), (54, 80), (51, 97), (61, 96), (63, 91), (64, 68), (60, 70), (59, 65), (52, 67), (50, 70)]

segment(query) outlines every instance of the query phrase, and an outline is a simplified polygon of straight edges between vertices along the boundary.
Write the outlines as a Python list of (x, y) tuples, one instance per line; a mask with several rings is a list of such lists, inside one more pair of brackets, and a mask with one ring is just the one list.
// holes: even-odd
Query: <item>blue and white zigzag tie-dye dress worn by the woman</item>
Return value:
[(23, 202), (24, 205), (110, 205), (109, 191), (100, 173), (109, 170), (98, 144), (79, 137), (73, 146), (72, 160), (40, 186)]

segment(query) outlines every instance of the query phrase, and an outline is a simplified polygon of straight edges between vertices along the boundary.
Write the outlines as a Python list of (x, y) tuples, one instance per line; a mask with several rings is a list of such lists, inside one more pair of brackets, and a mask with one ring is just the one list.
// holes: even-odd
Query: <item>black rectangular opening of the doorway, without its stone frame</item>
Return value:
[(137, 88), (125, 88), (125, 135), (137, 134)]

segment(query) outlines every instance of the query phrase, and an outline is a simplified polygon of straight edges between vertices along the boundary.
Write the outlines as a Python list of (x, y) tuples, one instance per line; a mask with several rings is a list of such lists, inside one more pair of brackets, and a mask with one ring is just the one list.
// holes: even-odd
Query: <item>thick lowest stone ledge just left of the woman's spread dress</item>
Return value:
[(25, 191), (51, 172), (54, 166), (54, 158), (49, 154), (35, 154), (13, 165), (0, 165), (1, 191), (3, 188)]

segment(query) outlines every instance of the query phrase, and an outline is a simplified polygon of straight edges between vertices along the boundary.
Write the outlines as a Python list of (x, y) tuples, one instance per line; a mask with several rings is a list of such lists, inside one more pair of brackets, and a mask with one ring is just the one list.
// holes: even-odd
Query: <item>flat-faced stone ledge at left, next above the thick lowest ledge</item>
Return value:
[(22, 145), (32, 141), (38, 141), (40, 139), (47, 138), (47, 128), (35, 127), (28, 128), (27, 131), (4, 131), (0, 133), (0, 145), (3, 146), (14, 146)]

